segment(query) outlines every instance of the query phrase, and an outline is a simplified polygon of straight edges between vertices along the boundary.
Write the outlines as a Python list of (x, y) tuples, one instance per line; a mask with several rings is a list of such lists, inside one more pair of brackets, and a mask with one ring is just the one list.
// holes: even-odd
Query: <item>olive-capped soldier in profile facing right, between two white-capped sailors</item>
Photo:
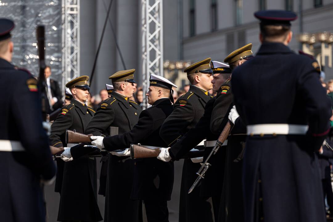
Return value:
[[(212, 74), (210, 58), (192, 64), (184, 70), (191, 83), (189, 91), (179, 97), (174, 103), (173, 111), (163, 123), (160, 131), (167, 146), (174, 144), (189, 129), (193, 128), (203, 116), (204, 107), (211, 98), (208, 90), (212, 89)], [(204, 149), (203, 141), (196, 149)], [(200, 168), (199, 162), (184, 159), (181, 176), (179, 221), (212, 221), (211, 206), (208, 201), (200, 197), (200, 189), (188, 194), (188, 189), (196, 179), (196, 172)]]

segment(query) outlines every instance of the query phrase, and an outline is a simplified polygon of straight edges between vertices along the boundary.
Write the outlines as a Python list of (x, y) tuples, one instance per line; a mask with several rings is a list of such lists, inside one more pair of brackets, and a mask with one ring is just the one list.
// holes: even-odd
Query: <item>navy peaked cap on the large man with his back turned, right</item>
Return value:
[(291, 11), (263, 10), (254, 13), (260, 20), (260, 25), (283, 25), (291, 26), (290, 22), (297, 19), (297, 15)]

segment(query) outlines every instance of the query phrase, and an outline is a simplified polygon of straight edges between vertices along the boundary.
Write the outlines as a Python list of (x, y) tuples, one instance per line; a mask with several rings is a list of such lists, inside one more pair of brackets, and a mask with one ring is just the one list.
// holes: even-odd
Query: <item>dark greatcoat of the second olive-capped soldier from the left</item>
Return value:
[[(111, 98), (103, 101), (86, 128), (86, 134), (109, 136), (110, 126), (119, 127), (122, 134), (138, 123), (140, 106), (127, 101), (113, 91)], [(141, 201), (131, 200), (134, 163), (131, 157), (110, 154), (105, 195), (104, 221), (140, 221)]]

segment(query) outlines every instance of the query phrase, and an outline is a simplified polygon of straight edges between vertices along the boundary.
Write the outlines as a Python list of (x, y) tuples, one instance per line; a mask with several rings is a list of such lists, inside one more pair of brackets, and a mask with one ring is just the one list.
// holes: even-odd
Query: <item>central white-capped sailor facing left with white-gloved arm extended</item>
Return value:
[[(93, 136), (92, 139), (96, 140), (92, 144), (108, 151), (125, 149), (125, 155), (130, 154), (128, 147), (131, 144), (165, 147), (166, 143), (159, 132), (162, 123), (172, 112), (172, 87), (177, 86), (152, 74), (147, 92), (148, 103), (152, 107), (141, 112), (139, 122), (130, 131), (105, 138)], [(137, 159), (134, 169), (131, 198), (144, 201), (149, 222), (167, 222), (166, 201), (170, 200), (173, 186), (173, 162), (166, 163), (156, 158)]]

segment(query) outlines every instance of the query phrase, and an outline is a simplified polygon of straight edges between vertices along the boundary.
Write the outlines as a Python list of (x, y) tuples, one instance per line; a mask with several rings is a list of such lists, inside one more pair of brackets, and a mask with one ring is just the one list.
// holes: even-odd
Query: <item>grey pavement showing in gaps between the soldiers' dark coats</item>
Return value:
[[(101, 168), (100, 159), (97, 160), (97, 170)], [(171, 200), (168, 201), (169, 209), (169, 221), (177, 222), (178, 221), (178, 210), (179, 210), (179, 192), (180, 192), (180, 179), (182, 171), (183, 161), (176, 161), (174, 163), (174, 184), (172, 190)], [(98, 177), (99, 178), (99, 172)], [(99, 187), (99, 180), (97, 181), (97, 187)], [(47, 214), (48, 222), (56, 222), (59, 209), (60, 195), (59, 193), (54, 192), (54, 184), (51, 186), (45, 187), (45, 197), (47, 201)], [(98, 205), (102, 216), (104, 217), (104, 202), (105, 197), (98, 195)]]

